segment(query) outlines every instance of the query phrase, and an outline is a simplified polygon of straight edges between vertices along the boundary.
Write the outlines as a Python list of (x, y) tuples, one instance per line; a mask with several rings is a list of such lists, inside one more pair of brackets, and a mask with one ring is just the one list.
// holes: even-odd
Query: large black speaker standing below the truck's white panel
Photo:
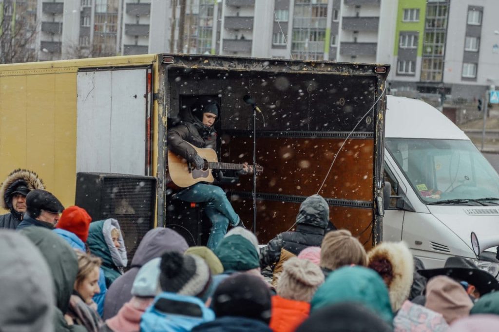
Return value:
[(128, 264), (144, 235), (154, 227), (156, 178), (116, 173), (76, 173), (75, 204), (92, 221), (118, 220), (124, 234)]

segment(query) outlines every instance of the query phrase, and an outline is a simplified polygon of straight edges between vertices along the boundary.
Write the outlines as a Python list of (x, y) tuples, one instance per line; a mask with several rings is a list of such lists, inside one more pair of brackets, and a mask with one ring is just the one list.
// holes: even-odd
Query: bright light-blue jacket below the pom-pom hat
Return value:
[(214, 319), (215, 313), (200, 299), (163, 292), (142, 315), (140, 331), (187, 332)]

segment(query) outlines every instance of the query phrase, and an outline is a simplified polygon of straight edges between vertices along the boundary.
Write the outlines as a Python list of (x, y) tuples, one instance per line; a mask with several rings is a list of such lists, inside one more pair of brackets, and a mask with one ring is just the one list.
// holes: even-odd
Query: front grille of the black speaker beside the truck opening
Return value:
[(119, 221), (129, 264), (140, 241), (153, 227), (151, 193), (155, 192), (154, 185), (154, 181), (144, 179), (104, 178), (102, 217)]

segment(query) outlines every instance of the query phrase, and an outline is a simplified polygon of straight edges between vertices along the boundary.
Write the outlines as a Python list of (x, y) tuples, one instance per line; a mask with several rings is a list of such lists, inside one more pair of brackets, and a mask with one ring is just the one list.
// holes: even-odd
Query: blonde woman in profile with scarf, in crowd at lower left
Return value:
[(78, 274), (69, 300), (66, 320), (69, 324), (85, 327), (87, 331), (97, 332), (102, 320), (97, 314), (97, 305), (92, 298), (100, 292), (98, 281), (101, 260), (79, 250), (75, 252), (78, 257)]

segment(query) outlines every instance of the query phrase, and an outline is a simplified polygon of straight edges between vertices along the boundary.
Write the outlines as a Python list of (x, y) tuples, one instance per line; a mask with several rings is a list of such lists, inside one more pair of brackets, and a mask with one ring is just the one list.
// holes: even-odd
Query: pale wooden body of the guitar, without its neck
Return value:
[[(187, 142), (186, 142), (187, 143)], [(190, 144), (190, 143), (188, 143)], [(190, 144), (198, 155), (208, 162), (218, 163), (217, 153), (209, 148), (197, 148)], [(196, 169), (193, 165), (189, 169), (189, 163), (182, 157), (168, 150), (168, 172), (173, 183), (179, 187), (186, 188), (198, 182), (213, 183), (212, 169)]]

